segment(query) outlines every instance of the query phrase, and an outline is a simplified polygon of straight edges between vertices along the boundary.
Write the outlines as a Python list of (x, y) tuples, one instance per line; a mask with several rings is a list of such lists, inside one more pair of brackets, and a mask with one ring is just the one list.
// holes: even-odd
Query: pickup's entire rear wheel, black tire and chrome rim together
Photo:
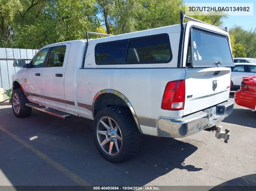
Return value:
[(139, 149), (140, 132), (126, 107), (106, 107), (95, 116), (93, 138), (99, 153), (108, 161), (119, 163)]

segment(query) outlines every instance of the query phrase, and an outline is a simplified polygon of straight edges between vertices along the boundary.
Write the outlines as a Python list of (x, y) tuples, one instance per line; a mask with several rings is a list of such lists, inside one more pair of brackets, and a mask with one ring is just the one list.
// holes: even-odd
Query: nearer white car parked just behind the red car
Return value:
[(231, 90), (240, 89), (243, 77), (256, 75), (256, 64), (254, 63), (234, 63), (231, 67)]

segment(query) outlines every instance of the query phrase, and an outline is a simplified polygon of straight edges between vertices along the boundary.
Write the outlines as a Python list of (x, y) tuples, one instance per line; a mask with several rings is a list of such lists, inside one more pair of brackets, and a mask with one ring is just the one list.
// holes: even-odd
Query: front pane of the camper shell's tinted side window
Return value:
[(95, 46), (95, 62), (98, 65), (122, 64), (125, 62), (128, 40), (100, 43)]

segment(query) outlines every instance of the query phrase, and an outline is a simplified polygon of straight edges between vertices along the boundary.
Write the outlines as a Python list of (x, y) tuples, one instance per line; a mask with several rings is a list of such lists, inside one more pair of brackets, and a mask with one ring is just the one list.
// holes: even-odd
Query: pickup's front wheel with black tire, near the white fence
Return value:
[(26, 106), (29, 103), (21, 88), (12, 91), (12, 111), (16, 117), (27, 117), (31, 114), (32, 108)]

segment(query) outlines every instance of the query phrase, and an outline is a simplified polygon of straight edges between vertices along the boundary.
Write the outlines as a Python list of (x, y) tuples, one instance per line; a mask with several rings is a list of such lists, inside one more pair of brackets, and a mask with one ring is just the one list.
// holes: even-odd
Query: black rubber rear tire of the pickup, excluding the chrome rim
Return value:
[[(105, 153), (105, 151), (102, 150), (97, 139), (97, 124), (99, 120), (104, 116), (114, 119), (122, 133), (122, 148), (120, 149), (119, 153), (114, 156)], [(138, 152), (141, 141), (141, 134), (131, 114), (131, 111), (127, 107), (111, 106), (100, 110), (96, 114), (93, 123), (93, 138), (96, 148), (103, 156), (103, 158), (112, 163), (119, 163), (129, 159), (130, 157), (135, 155), (136, 152)]]

